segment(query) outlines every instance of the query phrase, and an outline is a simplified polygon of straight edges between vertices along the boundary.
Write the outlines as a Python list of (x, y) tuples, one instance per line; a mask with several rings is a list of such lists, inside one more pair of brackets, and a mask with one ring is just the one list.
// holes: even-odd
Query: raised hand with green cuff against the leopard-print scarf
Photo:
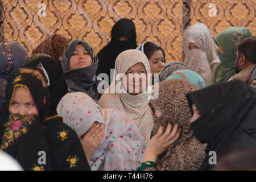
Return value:
[(181, 129), (178, 129), (178, 125), (175, 124), (174, 128), (172, 129), (172, 126), (170, 123), (168, 123), (166, 131), (163, 133), (163, 126), (160, 126), (158, 129), (158, 133), (154, 135), (154, 137), (151, 138), (151, 140), (148, 142), (147, 147), (144, 152), (143, 156), (143, 162), (146, 162), (148, 160), (152, 162), (156, 162), (158, 156), (160, 154), (163, 154), (164, 151), (167, 150), (173, 144), (176, 142), (176, 140), (179, 138)]

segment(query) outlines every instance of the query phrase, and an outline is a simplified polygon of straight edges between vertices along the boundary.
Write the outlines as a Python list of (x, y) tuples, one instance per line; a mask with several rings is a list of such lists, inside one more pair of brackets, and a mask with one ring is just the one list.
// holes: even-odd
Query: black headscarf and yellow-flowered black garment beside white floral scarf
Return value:
[[(59, 61), (52, 57), (38, 57), (32, 60), (35, 67), (41, 64), (49, 78), (49, 94), (51, 97), (47, 118), (42, 123), (44, 134), (51, 156), (54, 170), (90, 170), (79, 137), (75, 131), (63, 123), (61, 117), (56, 114), (56, 107), (60, 99), (68, 93), (67, 84), (63, 75), (63, 69)], [(34, 68), (33, 69), (37, 69)], [(40, 71), (40, 70), (39, 70)], [(69, 160), (76, 160), (71, 163)]]

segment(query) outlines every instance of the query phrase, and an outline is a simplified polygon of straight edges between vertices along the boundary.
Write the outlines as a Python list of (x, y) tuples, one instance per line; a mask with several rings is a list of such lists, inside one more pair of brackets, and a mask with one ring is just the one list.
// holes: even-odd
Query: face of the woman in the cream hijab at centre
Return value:
[(123, 87), (133, 96), (147, 88), (147, 71), (142, 63), (135, 64), (127, 70), (123, 77)]

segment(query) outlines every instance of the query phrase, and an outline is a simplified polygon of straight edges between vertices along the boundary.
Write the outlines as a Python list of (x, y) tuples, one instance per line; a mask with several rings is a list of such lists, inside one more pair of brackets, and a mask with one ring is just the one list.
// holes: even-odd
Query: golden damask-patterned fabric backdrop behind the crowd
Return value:
[[(209, 15), (210, 3), (216, 16)], [(190, 24), (205, 23), (212, 36), (230, 26), (256, 35), (255, 0), (2, 0), (0, 6), (0, 41), (16, 40), (29, 54), (53, 33), (83, 39), (97, 53), (121, 18), (133, 20), (138, 45), (145, 40), (160, 44), (168, 62), (182, 61), (183, 31)]]

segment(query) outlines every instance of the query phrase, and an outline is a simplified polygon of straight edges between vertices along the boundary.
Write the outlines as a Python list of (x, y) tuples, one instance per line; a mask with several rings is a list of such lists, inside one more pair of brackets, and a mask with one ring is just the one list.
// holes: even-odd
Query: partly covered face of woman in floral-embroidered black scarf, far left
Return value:
[(14, 90), (13, 99), (10, 101), (9, 112), (11, 114), (39, 115), (34, 101), (27, 89), (19, 86)]

